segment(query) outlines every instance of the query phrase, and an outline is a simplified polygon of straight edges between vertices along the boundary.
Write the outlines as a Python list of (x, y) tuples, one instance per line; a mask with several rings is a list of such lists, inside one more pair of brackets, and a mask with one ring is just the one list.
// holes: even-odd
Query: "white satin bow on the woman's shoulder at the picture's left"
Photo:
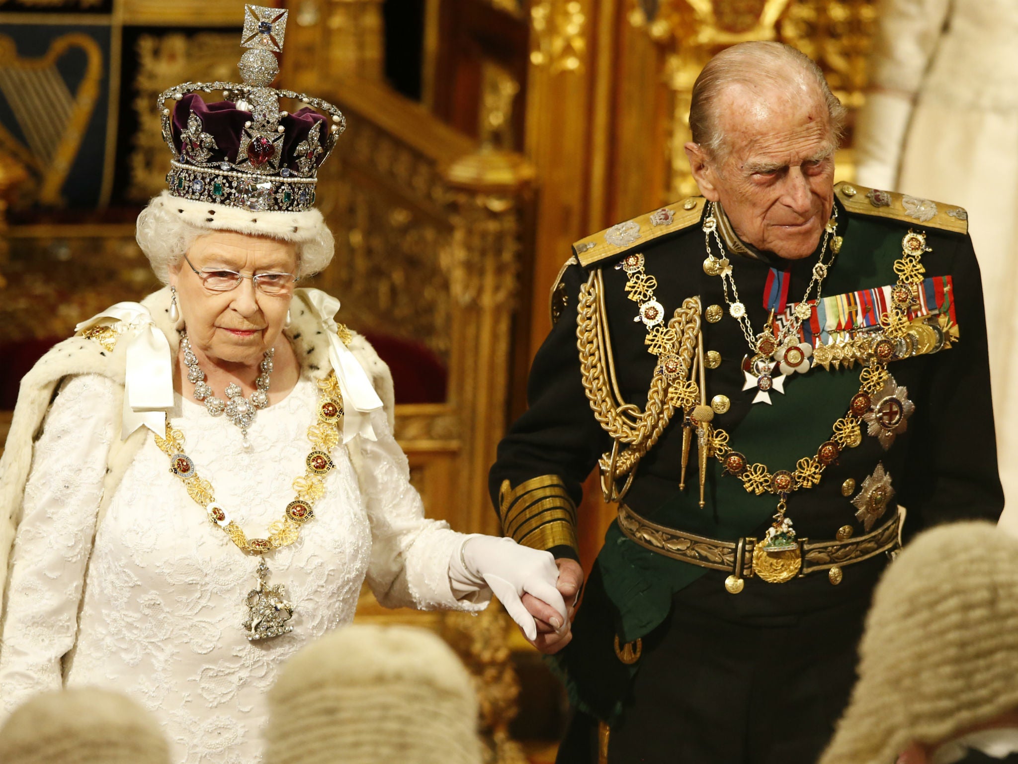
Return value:
[(166, 413), (173, 407), (173, 368), (170, 343), (156, 328), (149, 309), (139, 303), (117, 303), (82, 321), (74, 327), (74, 332), (100, 325), (114, 326), (117, 322), (121, 322), (123, 331), (134, 333), (127, 339), (120, 436), (126, 440), (137, 428), (148, 427), (163, 437)]

